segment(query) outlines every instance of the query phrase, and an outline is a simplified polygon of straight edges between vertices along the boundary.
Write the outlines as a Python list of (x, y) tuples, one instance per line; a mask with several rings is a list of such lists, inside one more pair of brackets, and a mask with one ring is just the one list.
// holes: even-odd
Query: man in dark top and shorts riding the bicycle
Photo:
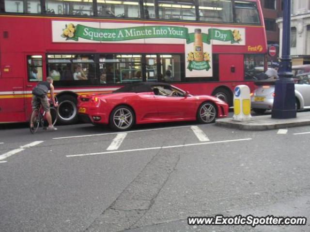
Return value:
[[(49, 103), (48, 103), (48, 98), (47, 98), (48, 90), (50, 90), (50, 97), (53, 102), (53, 105), (55, 107), (58, 106), (58, 103), (55, 102), (55, 98), (54, 98), (53, 78), (48, 76), (47, 81), (40, 82), (32, 90), (32, 94), (33, 94), (32, 102), (31, 102), (32, 109), (36, 109), (37, 107), (40, 106), (40, 103), (41, 103), (43, 109), (46, 111), (47, 122), (48, 122), (47, 131), (57, 131), (57, 128), (55, 128), (52, 124), (52, 116), (50, 115), (50, 111), (49, 111)], [(33, 117), (34, 115), (31, 114), (31, 124), (30, 124), (31, 128), (33, 128)]]

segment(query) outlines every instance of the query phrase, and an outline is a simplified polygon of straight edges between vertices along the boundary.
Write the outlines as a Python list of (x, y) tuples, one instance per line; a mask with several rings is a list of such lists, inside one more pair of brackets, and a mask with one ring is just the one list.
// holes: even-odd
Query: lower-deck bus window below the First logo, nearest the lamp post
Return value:
[(260, 73), (264, 72), (264, 55), (263, 54), (246, 54), (244, 55), (244, 73), (245, 80), (255, 80)]

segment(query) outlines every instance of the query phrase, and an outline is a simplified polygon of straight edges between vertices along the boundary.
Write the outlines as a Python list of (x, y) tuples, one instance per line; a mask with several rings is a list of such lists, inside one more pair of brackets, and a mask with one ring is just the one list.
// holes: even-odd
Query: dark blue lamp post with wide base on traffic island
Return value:
[(282, 57), (279, 62), (279, 80), (276, 81), (272, 118), (296, 117), (295, 87), (292, 78), (291, 49), (291, 0), (283, 0)]

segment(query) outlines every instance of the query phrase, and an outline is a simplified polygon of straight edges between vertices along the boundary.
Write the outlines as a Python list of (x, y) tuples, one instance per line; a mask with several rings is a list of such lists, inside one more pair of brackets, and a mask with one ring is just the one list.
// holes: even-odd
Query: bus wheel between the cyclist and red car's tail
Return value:
[(61, 124), (77, 123), (77, 99), (71, 95), (63, 95), (58, 98), (58, 102), (58, 121)]

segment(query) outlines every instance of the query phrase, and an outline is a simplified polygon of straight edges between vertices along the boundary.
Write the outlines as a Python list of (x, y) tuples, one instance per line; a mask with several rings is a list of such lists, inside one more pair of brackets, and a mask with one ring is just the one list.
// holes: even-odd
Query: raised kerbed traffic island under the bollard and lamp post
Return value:
[(310, 112), (298, 112), (296, 118), (275, 119), (271, 115), (254, 116), (250, 121), (234, 121), (233, 118), (217, 119), (217, 126), (245, 131), (265, 131), (310, 125)]

